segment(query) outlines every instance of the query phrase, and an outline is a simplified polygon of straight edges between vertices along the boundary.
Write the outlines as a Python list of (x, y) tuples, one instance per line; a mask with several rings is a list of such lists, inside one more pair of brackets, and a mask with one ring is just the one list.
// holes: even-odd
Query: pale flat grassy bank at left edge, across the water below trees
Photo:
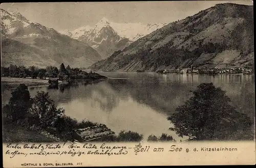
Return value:
[(26, 86), (48, 86), (47, 79), (32, 79), (32, 78), (17, 78), (17, 77), (2, 77), (2, 87), (3, 88), (17, 88), (20, 84), (25, 84)]

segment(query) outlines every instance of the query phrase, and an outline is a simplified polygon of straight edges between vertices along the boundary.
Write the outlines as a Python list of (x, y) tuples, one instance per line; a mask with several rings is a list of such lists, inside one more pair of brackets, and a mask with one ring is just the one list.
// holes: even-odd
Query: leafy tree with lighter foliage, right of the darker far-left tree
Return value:
[(29, 109), (30, 114), (34, 117), (34, 121), (40, 128), (52, 126), (54, 122), (65, 113), (62, 108), (57, 108), (48, 92), (37, 92), (33, 99), (34, 103)]

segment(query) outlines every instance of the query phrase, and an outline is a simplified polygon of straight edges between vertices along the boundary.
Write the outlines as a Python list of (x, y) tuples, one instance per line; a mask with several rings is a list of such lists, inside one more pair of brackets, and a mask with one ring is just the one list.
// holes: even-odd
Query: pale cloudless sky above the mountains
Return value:
[(165, 1), (165, 2), (59, 2), (3, 3), (0, 8), (19, 12), (31, 22), (38, 22), (57, 31), (75, 30), (95, 25), (103, 17), (117, 23), (173, 22), (192, 16), (216, 4), (253, 5), (244, 1)]

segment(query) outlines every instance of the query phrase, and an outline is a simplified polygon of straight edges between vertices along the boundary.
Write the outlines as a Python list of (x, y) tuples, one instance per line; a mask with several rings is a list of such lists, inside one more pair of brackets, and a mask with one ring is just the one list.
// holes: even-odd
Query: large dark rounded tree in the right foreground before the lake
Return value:
[(174, 124), (170, 130), (196, 140), (243, 139), (245, 136), (235, 134), (249, 134), (252, 122), (229, 104), (230, 99), (221, 88), (212, 83), (201, 83), (193, 94), (168, 117)]

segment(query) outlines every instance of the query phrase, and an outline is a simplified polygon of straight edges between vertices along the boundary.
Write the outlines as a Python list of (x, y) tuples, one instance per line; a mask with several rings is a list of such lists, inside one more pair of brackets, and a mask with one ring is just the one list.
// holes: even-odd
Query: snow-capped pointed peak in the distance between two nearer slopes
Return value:
[(102, 18), (95, 26), (82, 26), (74, 31), (59, 31), (71, 38), (87, 43), (108, 58), (114, 51), (122, 50), (133, 41), (152, 33), (167, 23), (115, 23)]

